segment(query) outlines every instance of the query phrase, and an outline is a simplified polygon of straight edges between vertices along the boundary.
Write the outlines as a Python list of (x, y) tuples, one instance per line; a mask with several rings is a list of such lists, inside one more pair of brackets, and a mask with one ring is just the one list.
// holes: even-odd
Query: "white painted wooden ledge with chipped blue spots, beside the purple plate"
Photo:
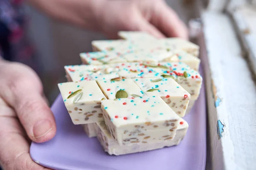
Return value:
[[(256, 169), (256, 86), (227, 14), (204, 11), (202, 53), (208, 99), (207, 170)], [(207, 61), (208, 60), (208, 61)], [(224, 125), (221, 137), (217, 121)]]

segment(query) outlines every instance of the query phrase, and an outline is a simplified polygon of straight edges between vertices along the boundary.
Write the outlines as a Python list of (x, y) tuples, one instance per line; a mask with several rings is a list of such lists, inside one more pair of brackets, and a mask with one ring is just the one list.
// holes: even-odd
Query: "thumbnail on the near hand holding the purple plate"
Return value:
[(42, 120), (36, 123), (33, 127), (34, 137), (40, 138), (46, 135), (47, 133), (49, 133), (49, 131), (51, 130), (52, 130), (51, 122), (49, 120)]

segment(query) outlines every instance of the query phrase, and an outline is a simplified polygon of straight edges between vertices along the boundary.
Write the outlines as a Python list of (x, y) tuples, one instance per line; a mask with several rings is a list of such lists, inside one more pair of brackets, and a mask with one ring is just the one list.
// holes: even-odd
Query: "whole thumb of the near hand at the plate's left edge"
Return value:
[(32, 141), (52, 139), (56, 133), (55, 119), (41, 95), (38, 77), (21, 65), (14, 65), (13, 68), (9, 64), (8, 72), (5, 73), (5, 70), (0, 70), (0, 97), (13, 108)]

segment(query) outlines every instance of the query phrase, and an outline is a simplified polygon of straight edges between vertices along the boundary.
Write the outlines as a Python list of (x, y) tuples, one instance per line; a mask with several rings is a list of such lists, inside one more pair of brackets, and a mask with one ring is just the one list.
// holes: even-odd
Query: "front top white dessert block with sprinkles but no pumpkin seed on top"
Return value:
[(172, 140), (180, 117), (158, 96), (102, 101), (102, 112), (119, 145)]

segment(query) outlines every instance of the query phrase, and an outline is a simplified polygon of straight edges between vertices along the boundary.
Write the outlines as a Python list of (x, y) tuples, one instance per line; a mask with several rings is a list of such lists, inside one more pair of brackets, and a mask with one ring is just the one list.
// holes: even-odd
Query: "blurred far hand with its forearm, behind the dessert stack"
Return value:
[(29, 0), (57, 20), (101, 31), (145, 31), (157, 38), (188, 39), (188, 30), (164, 0)]

